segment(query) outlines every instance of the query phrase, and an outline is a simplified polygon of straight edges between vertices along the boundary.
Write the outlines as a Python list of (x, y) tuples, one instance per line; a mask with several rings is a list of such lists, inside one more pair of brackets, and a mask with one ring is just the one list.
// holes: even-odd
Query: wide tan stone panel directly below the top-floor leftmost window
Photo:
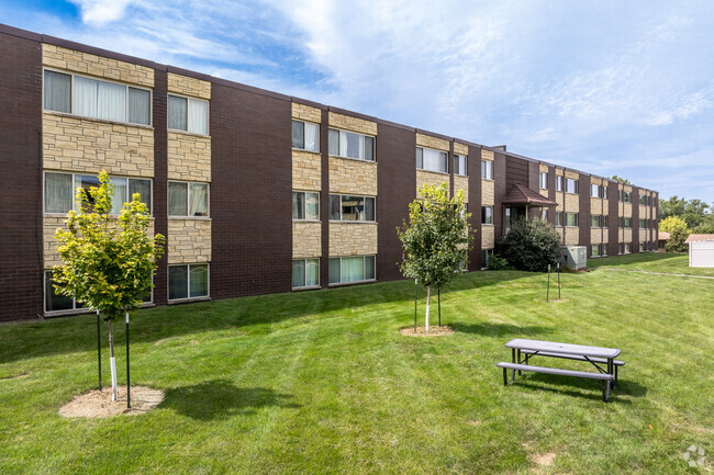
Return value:
[(154, 177), (154, 131), (91, 118), (42, 115), (43, 168)]

